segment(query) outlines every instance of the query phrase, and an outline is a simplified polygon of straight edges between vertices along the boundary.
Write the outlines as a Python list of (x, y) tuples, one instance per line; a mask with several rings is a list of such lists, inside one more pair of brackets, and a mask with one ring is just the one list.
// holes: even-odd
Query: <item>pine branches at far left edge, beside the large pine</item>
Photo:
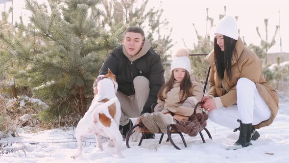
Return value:
[[(16, 79), (21, 70), (27, 68), (29, 61), (21, 58), (25, 58), (24, 54), (19, 53), (16, 49), (21, 49), (21, 44), (25, 40), (33, 40), (24, 31), (15, 30), (12, 24), (8, 23), (8, 17), (11, 14), (12, 8), (8, 12), (2, 12), (2, 21), (0, 21), (0, 81), (1, 89), (3, 88), (4, 94), (11, 94), (12, 97), (17, 98), (17, 82)], [(22, 22), (22, 19), (20, 19)], [(13, 38), (19, 37), (19, 40), (13, 40)], [(22, 50), (27, 50), (30, 44), (22, 46)], [(19, 81), (21, 83), (25, 81)], [(6, 83), (6, 84), (3, 84)], [(7, 84), (9, 83), (9, 84)], [(21, 86), (18, 87), (18, 90)], [(2, 92), (2, 91), (1, 91)], [(26, 92), (27, 93), (27, 92)]]

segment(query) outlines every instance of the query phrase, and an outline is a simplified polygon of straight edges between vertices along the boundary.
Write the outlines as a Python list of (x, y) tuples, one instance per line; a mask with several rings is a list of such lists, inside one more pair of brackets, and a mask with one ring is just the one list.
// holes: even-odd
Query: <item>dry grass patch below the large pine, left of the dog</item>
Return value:
[[(0, 95), (0, 138), (8, 136), (9, 133), (17, 136), (17, 128), (23, 128), (27, 133), (35, 133), (58, 127), (76, 126), (81, 119), (80, 112), (71, 109), (78, 107), (77, 102), (75, 106), (71, 104), (65, 111), (40, 109), (38, 104), (28, 102), (25, 103), (25, 107), (20, 107), (19, 103), (19, 100), (8, 100)], [(19, 117), (24, 114), (29, 114), (32, 118), (28, 121), (20, 120)]]

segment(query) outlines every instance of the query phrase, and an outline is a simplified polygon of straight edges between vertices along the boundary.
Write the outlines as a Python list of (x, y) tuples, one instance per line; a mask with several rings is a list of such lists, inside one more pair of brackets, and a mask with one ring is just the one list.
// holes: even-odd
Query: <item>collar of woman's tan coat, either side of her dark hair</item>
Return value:
[[(236, 42), (236, 52), (237, 54), (234, 53), (233, 56), (235, 57), (232, 57), (232, 66), (237, 63), (238, 59), (240, 58), (243, 50), (244, 50), (244, 43), (243, 41), (241, 40), (241, 38), (239, 37), (237, 42)], [(214, 65), (215, 64), (215, 57), (214, 57), (214, 50), (208, 54), (205, 58), (204, 58), (204, 61), (210, 63), (210, 65)]]

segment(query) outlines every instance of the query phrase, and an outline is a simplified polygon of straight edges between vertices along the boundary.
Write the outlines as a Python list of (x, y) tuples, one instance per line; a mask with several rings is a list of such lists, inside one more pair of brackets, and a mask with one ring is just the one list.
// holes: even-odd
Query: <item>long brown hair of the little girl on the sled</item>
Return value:
[[(168, 94), (168, 92), (170, 91), (170, 89), (173, 88), (173, 83), (174, 83), (174, 77), (173, 77), (173, 70), (171, 72), (169, 81), (167, 81), (165, 83), (164, 86), (162, 86), (162, 88), (159, 91), (158, 94), (158, 99), (160, 99), (161, 101), (165, 101), (165, 97), (163, 96), (164, 94)], [(165, 92), (164, 92), (165, 91)], [(191, 97), (193, 96), (193, 84), (190, 78), (190, 74), (189, 72), (186, 70), (186, 74), (184, 76), (184, 79), (181, 81), (180, 83), (180, 103), (183, 103), (187, 97)], [(185, 97), (185, 99), (183, 99)]]

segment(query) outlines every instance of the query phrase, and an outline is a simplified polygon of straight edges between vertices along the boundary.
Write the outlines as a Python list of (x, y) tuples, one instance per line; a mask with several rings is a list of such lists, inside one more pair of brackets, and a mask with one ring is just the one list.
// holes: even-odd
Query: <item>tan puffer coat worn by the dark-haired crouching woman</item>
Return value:
[(208, 95), (220, 97), (224, 107), (229, 107), (237, 103), (236, 85), (240, 78), (247, 78), (255, 82), (259, 94), (271, 110), (271, 117), (254, 127), (261, 128), (269, 126), (273, 122), (278, 111), (278, 94), (269, 86), (261, 74), (262, 63), (259, 57), (254, 54), (254, 52), (244, 47), (240, 37), (236, 43), (236, 51), (237, 54), (234, 54), (232, 57), (232, 80), (230, 81), (227, 78), (227, 73), (225, 71), (223, 86), (221, 79), (217, 75), (214, 51), (204, 59), (204, 61), (210, 63), (212, 69), (210, 73), (210, 91)]

